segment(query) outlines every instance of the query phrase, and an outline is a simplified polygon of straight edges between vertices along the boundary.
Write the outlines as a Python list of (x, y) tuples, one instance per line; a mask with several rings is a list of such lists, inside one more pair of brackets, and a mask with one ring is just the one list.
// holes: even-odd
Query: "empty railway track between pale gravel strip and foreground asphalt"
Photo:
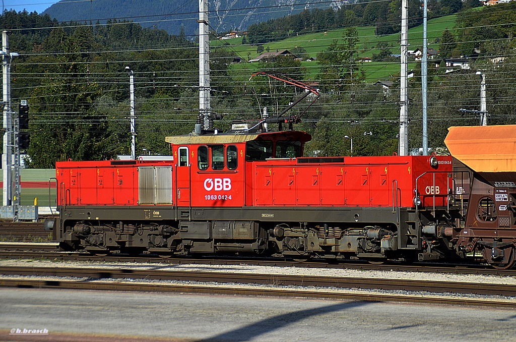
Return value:
[[(54, 267), (0, 267), (0, 274), (10, 276), (9, 278), (0, 278), (0, 286), (6, 287), (240, 294), (246, 296), (307, 297), (355, 301), (410, 302), (420, 304), (432, 303), (516, 308), (516, 301), (492, 301), (439, 296), (433, 297), (431, 295), (421, 296), (418, 294), (402, 296), (397, 294), (357, 293), (340, 290), (354, 288), (414, 292), (427, 291), (433, 293), (475, 293), (488, 296), (496, 295), (516, 297), (516, 288), (514, 288), (514, 286), (502, 284), (411, 281), (407, 279), (399, 280), (221, 272), (177, 272), (164, 270)], [(77, 279), (17, 279), (14, 277), (17, 275), (42, 277), (58, 276)], [(87, 278), (88, 281), (85, 282), (84, 278)], [(143, 280), (145, 282), (143, 282)], [(155, 282), (149, 284), (148, 282), (152, 280), (200, 282), (201, 284), (185, 285)], [(211, 283), (217, 284), (212, 285)], [(236, 284), (228, 285), (228, 283)], [(264, 287), (246, 287), (241, 284), (263, 285)], [(282, 286), (288, 286), (288, 288), (281, 288)]]

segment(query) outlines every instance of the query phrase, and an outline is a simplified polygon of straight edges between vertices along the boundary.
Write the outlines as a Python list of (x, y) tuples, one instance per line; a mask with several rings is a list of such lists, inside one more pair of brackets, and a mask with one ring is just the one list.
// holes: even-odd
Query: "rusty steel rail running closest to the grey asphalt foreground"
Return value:
[[(53, 269), (55, 270), (55, 269)], [(85, 270), (82, 269), (84, 272)], [(131, 276), (135, 278), (135, 270), (118, 270), (120, 272), (131, 271), (127, 273), (121, 273), (125, 278)], [(32, 269), (31, 272), (35, 273), (36, 269)], [(103, 273), (99, 273), (99, 276), (109, 275), (112, 278), (115, 274), (114, 270), (103, 270)], [(143, 271), (149, 273), (149, 271)], [(39, 272), (41, 273), (41, 272)], [(190, 272), (194, 273), (194, 272)], [(195, 275), (195, 274), (194, 274)], [(147, 274), (149, 279), (151, 274)], [(201, 275), (202, 276), (202, 275)], [(215, 277), (224, 276), (226, 281), (229, 276), (234, 274), (216, 274)], [(251, 274), (250, 276), (256, 275)], [(271, 275), (264, 275), (272, 281)], [(212, 278), (212, 279), (214, 279)], [(274, 282), (277, 282), (275, 277)], [(101, 277), (102, 279), (102, 277)], [(213, 281), (213, 280), (212, 280)], [(256, 280), (254, 280), (256, 283)], [(277, 285), (277, 284), (273, 284)], [(243, 295), (243, 296), (275, 296), (275, 297), (297, 297), (297, 298), (324, 298), (333, 300), (353, 300), (353, 301), (367, 301), (367, 302), (404, 302), (404, 303), (417, 303), (417, 304), (450, 304), (450, 305), (462, 305), (462, 306), (484, 306), (484, 307), (495, 307), (495, 308), (516, 308), (516, 301), (490, 301), (480, 299), (469, 299), (469, 298), (449, 298), (449, 297), (421, 297), (421, 296), (399, 296), (393, 294), (378, 294), (378, 293), (349, 293), (329, 291), (329, 290), (310, 290), (310, 289), (277, 289), (277, 288), (247, 288), (228, 286), (225, 284), (218, 284), (216, 286), (207, 285), (178, 285), (178, 284), (141, 284), (122, 282), (116, 280), (114, 282), (106, 282), (100, 280), (89, 280), (88, 282), (72, 281), (72, 280), (27, 280), (27, 279), (6, 279), (0, 278), (0, 286), (3, 287), (23, 287), (23, 288), (62, 288), (62, 289), (88, 289), (88, 290), (122, 290), (122, 291), (146, 291), (146, 292), (180, 292), (180, 293), (206, 293), (206, 294), (226, 294), (226, 295)]]

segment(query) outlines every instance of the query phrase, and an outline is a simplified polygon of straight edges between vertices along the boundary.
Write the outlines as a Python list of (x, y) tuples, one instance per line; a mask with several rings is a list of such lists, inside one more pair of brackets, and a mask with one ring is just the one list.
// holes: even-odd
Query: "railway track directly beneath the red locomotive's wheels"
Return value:
[(516, 276), (516, 269), (496, 270), (489, 266), (471, 265), (401, 265), (385, 264), (370, 265), (363, 262), (327, 263), (325, 261), (294, 262), (282, 259), (256, 259), (242, 257), (177, 257), (162, 259), (157, 256), (142, 254), (138, 256), (113, 254), (99, 257), (88, 253), (57, 252), (57, 243), (2, 243), (0, 242), (0, 259), (48, 259), (62, 261), (107, 261), (107, 262), (146, 262), (169, 264), (208, 264), (208, 265), (255, 265), (278, 267), (302, 267), (302, 268), (328, 268), (328, 269), (353, 269), (353, 270), (389, 270), (399, 272), (426, 272), (449, 274), (481, 274), (496, 276)]

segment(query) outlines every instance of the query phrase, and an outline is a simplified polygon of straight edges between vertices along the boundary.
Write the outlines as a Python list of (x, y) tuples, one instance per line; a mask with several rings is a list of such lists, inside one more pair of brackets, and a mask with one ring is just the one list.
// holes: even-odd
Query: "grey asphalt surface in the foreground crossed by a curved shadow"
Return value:
[(476, 307), (0, 289), (2, 341), (516, 341), (515, 331), (516, 312)]

